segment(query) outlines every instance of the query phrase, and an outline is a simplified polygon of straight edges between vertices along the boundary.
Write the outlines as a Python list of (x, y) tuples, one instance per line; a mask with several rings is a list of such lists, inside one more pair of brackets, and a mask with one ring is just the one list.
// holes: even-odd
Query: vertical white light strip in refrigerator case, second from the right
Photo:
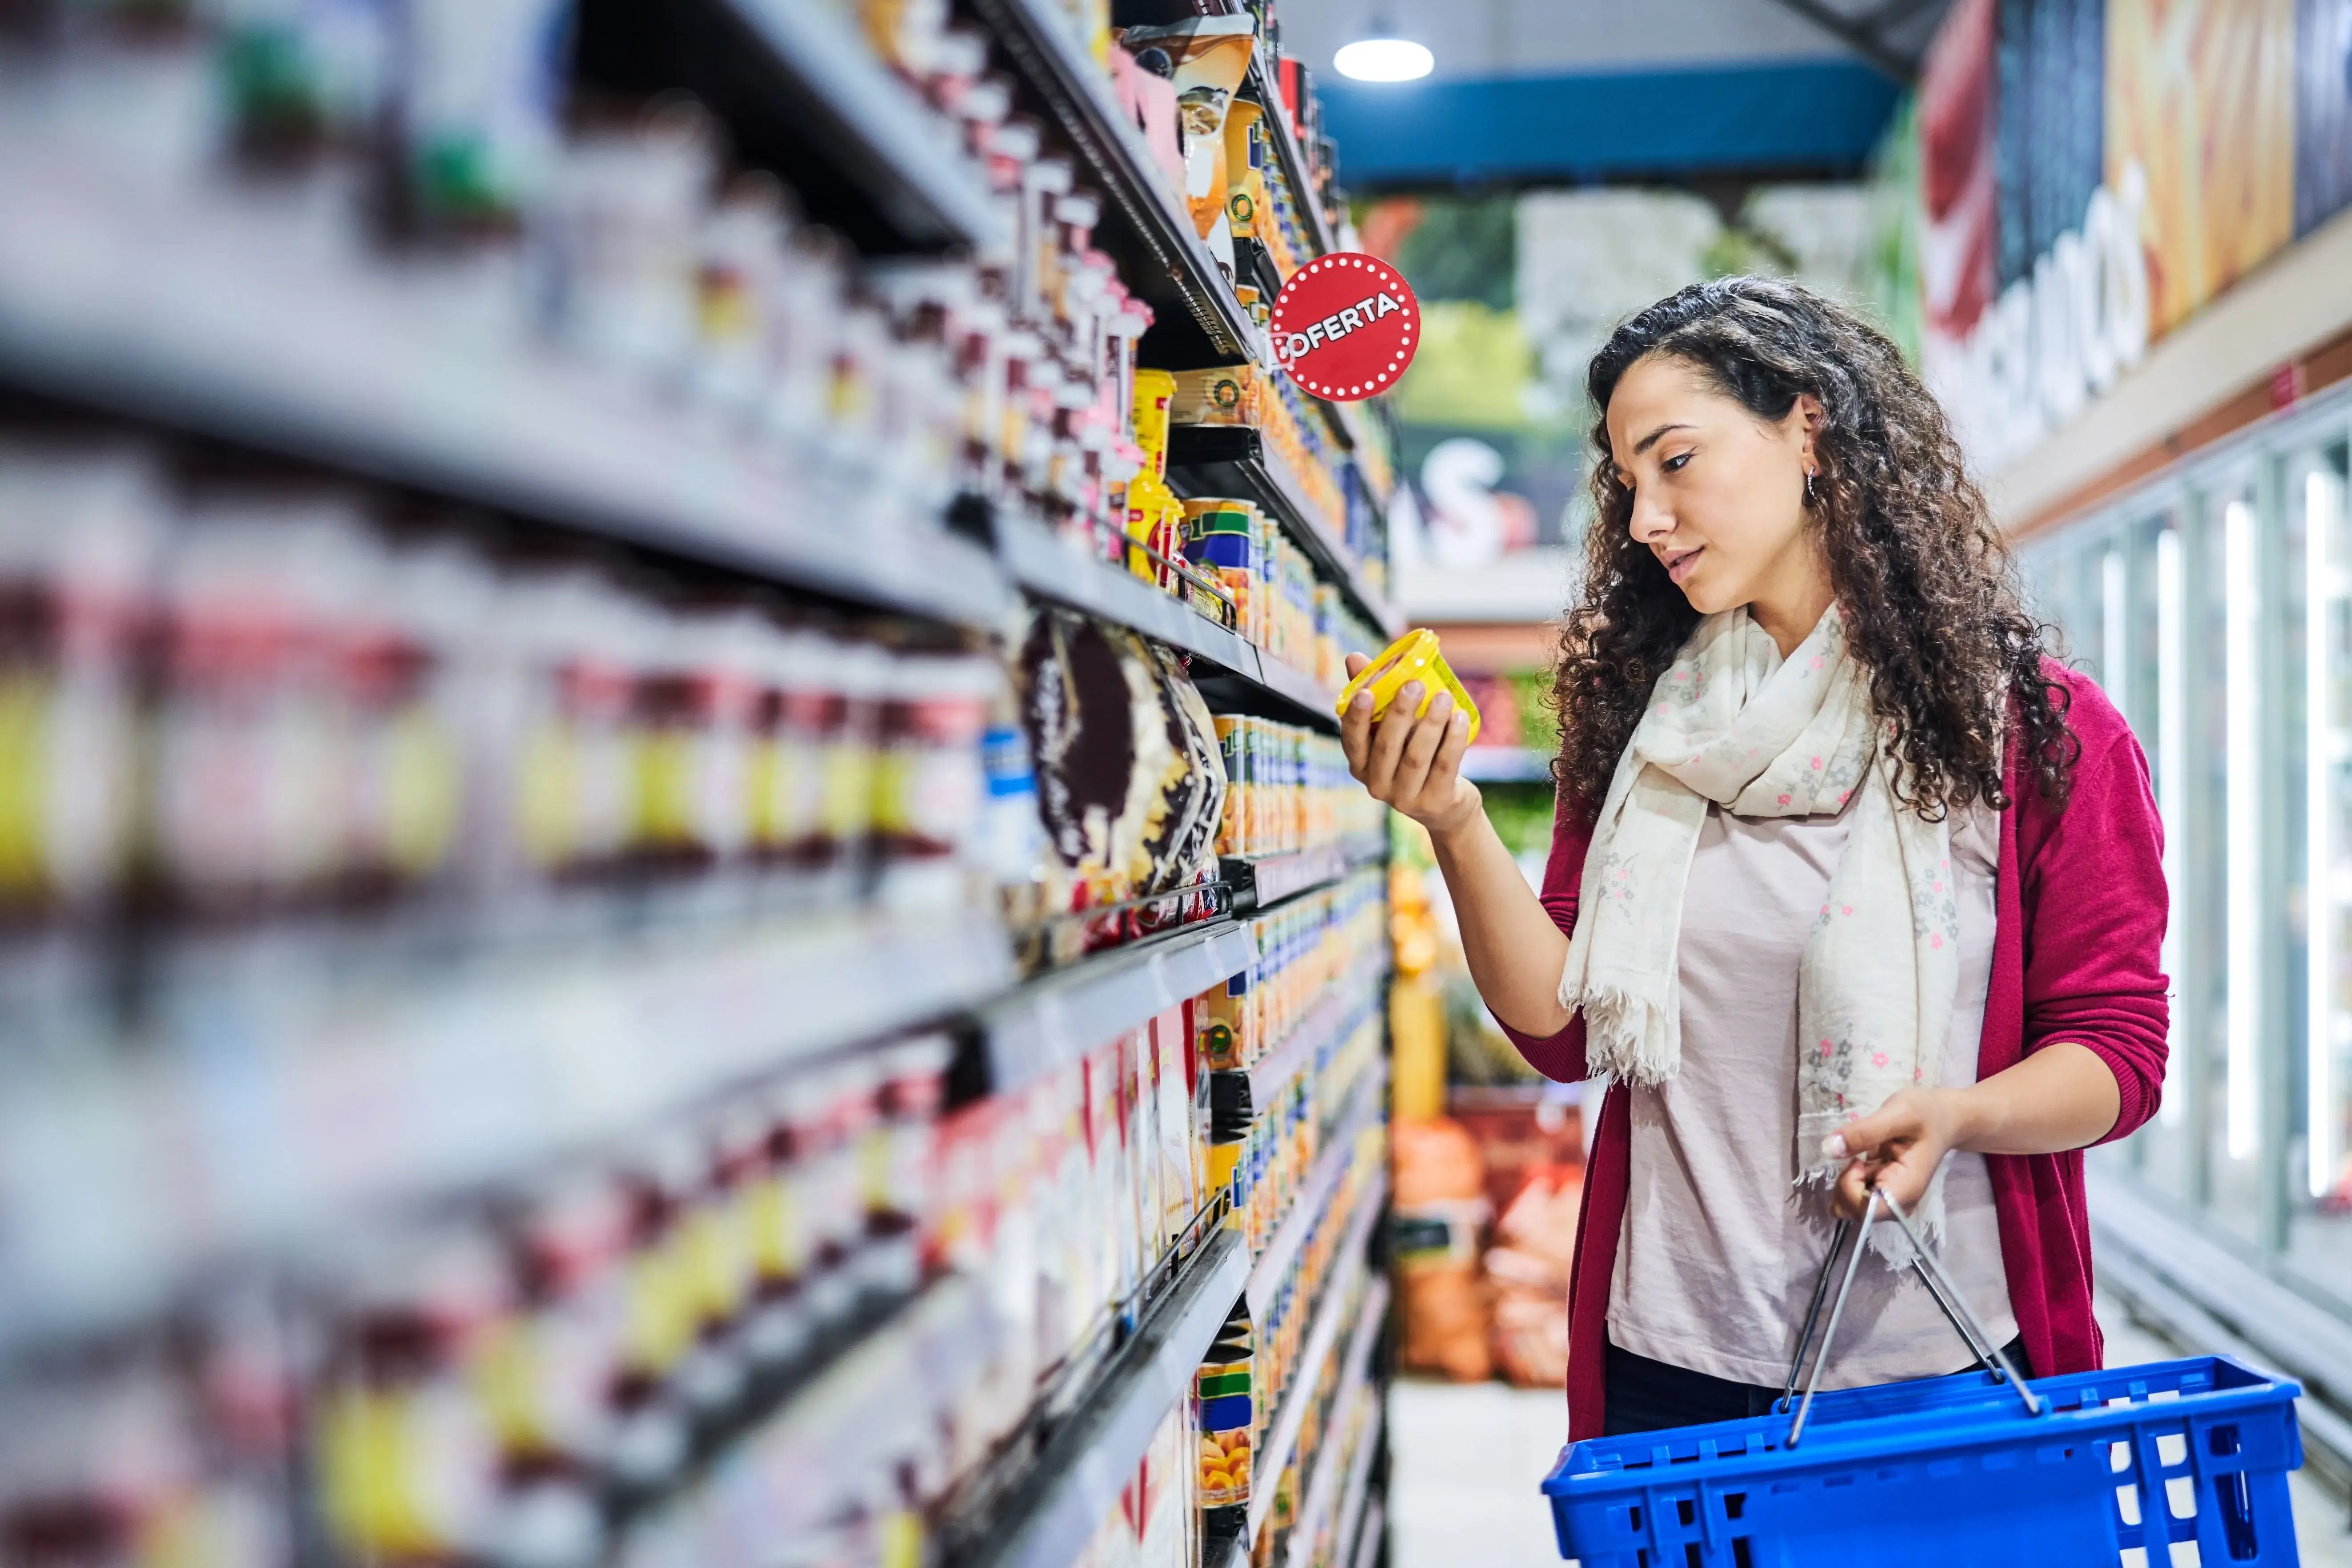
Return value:
[(2230, 1159), (2253, 1159), (2263, 1135), (2260, 1105), (2256, 1100), (2256, 1048), (2263, 1027), (2263, 940), (2260, 929), (2260, 865), (2256, 856), (2260, 835), (2260, 703), (2256, 679), (2256, 649), (2263, 635), (2263, 590), (2256, 583), (2253, 508), (2232, 501), (2223, 508), (2223, 604), (2225, 604), (2225, 654), (2227, 654), (2227, 757), (2223, 759), (2230, 809), (2225, 813), (2227, 835), (2227, 914), (2230, 914)]

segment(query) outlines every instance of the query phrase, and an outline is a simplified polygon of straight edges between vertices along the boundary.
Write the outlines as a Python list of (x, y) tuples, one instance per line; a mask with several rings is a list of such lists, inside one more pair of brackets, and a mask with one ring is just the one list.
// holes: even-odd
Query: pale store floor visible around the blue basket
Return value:
[[(2164, 1361), (2173, 1352), (2124, 1309), (2100, 1300), (2107, 1356), (2117, 1363)], [(1397, 1382), (1388, 1396), (1390, 1568), (1552, 1568), (1552, 1521), (1536, 1495), (1566, 1432), (1557, 1389), (1501, 1382)], [(2310, 1472), (2293, 1476), (2296, 1535), (2303, 1568), (2352, 1568), (2345, 1497)]]

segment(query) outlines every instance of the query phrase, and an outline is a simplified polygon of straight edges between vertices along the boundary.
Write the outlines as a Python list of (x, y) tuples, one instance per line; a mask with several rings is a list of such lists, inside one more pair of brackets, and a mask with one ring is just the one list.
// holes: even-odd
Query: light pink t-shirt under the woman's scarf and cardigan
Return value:
[[(1682, 1072), (1635, 1088), (1632, 1180), (1609, 1295), (1621, 1349), (1778, 1387), (1830, 1244), (1828, 1197), (1797, 1178), (1797, 959), (1846, 849), (1844, 816), (1708, 811), (1682, 900)], [(1976, 1081), (1992, 978), (1999, 818), (1952, 813), (1959, 999), (1943, 1084)], [(1994, 1345), (2016, 1338), (1983, 1154), (1945, 1157), (1938, 1255)], [(1844, 1274), (1844, 1253), (1832, 1274)], [(1828, 1324), (1828, 1305), (1823, 1307)], [(1818, 1349), (1818, 1335), (1816, 1335)], [(1811, 1361), (1806, 1363), (1811, 1371)], [(1823, 1387), (1973, 1366), (1926, 1288), (1863, 1258)]]

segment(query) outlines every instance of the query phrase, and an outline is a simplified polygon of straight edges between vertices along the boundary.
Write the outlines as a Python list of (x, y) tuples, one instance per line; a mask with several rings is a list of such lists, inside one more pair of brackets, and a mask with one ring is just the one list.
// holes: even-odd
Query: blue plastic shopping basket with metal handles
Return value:
[[(1832, 1262), (1851, 1229), (1839, 1225)], [(1818, 1399), (1809, 1389), (1773, 1415), (1571, 1443), (1543, 1481), (1559, 1554), (1583, 1568), (2298, 1561), (2286, 1474), (2303, 1465), (2300, 1387), (2230, 1356), (2023, 1382), (1910, 1239), (1922, 1281), (1985, 1371)], [(1860, 1251), (1856, 1241), (1856, 1260)], [(1790, 1396), (1828, 1274), (1823, 1265)]]

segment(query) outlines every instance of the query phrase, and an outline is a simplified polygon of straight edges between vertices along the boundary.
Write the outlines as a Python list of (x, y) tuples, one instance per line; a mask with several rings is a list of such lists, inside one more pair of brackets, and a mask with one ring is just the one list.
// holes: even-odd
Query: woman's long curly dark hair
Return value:
[(1609, 397), (1649, 355), (1686, 362), (1757, 418), (1785, 418), (1802, 393), (1820, 400), (1806, 524), (1818, 529), (1870, 701), (1893, 719), (1903, 799), (1929, 818), (1971, 802), (2006, 809), (2011, 708), (2042, 797), (2065, 806), (2082, 752), (2065, 722), (2067, 689), (2044, 670), (2044, 628), (2025, 614), (1943, 407), (1886, 334), (1773, 277), (1691, 284), (1592, 355), (1592, 529), (1552, 679), (1562, 792), (1599, 806), (1651, 686), (1698, 625), (1658, 557), (1635, 543), (1632, 489), (1609, 451)]

